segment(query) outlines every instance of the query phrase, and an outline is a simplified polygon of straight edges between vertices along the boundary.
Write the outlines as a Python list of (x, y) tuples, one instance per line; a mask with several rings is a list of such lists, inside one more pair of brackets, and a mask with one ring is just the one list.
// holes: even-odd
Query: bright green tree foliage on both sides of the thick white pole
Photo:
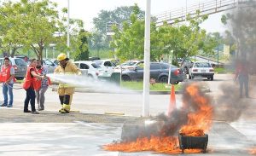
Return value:
[[(187, 58), (196, 55), (199, 50), (212, 52), (216, 47), (215, 38), (207, 38), (205, 30), (199, 26), (207, 16), (200, 16), (199, 12), (194, 18), (188, 16), (189, 25), (178, 23), (169, 25), (166, 22), (157, 28), (154, 21), (151, 22), (150, 34), (150, 59), (160, 61), (162, 55), (170, 55), (171, 52), (177, 62), (177, 58)], [(137, 14), (131, 14), (131, 23), (123, 23), (123, 29), (113, 26), (115, 35), (110, 43), (116, 49), (116, 55), (122, 60), (143, 59), (144, 49), (144, 20), (140, 20)]]

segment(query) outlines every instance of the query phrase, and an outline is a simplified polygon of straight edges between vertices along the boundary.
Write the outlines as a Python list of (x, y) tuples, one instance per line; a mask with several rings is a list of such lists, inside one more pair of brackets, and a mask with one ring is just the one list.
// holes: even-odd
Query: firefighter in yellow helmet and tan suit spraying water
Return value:
[[(63, 74), (64, 76), (67, 74), (82, 74), (79, 68), (69, 61), (67, 55), (61, 53), (58, 55), (57, 60), (59, 61), (59, 66), (55, 68), (55, 74)], [(70, 113), (73, 93), (73, 86), (60, 82), (58, 88), (58, 95), (61, 101), (61, 109), (59, 110), (60, 113)]]

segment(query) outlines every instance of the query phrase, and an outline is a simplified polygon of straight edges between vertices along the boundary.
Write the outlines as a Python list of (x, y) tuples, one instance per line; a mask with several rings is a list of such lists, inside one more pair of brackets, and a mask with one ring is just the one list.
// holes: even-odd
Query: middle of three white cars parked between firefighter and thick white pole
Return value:
[(100, 73), (100, 76), (102, 77), (110, 77), (114, 72), (114, 67), (116, 66), (114, 61), (111, 60), (96, 60), (93, 62), (102, 67), (103, 71)]

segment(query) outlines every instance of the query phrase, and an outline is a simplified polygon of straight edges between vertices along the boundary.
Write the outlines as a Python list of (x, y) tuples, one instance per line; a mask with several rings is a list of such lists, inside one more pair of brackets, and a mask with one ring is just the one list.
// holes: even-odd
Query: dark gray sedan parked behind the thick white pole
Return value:
[[(186, 78), (185, 72), (177, 66), (171, 67), (171, 84), (178, 84)], [(159, 83), (167, 83), (170, 65), (162, 62), (150, 63), (150, 78), (154, 78)], [(122, 80), (139, 81), (143, 80), (143, 66), (137, 66), (135, 70), (125, 70), (122, 72)]]

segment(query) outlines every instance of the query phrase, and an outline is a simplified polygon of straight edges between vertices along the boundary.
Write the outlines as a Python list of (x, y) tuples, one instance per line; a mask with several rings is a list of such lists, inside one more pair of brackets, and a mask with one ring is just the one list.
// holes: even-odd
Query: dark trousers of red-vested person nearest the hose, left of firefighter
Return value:
[(28, 110), (28, 103), (30, 101), (32, 112), (36, 111), (35, 107), (35, 101), (36, 101), (36, 94), (35, 90), (33, 90), (31, 87), (26, 90), (26, 99), (24, 101), (24, 111)]

